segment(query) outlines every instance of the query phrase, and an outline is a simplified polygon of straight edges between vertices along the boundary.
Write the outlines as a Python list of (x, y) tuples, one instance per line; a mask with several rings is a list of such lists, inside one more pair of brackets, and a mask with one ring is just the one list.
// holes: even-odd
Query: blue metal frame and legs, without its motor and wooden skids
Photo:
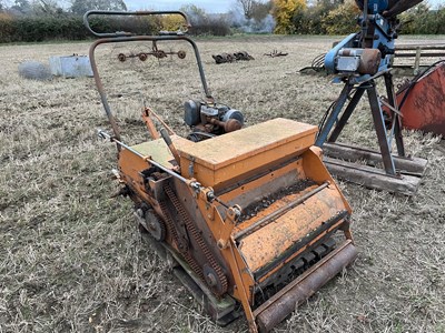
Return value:
[[(319, 129), (315, 144), (322, 147), (326, 141), (335, 142), (343, 128), (346, 125), (350, 114), (362, 99), (364, 92), (367, 92), (368, 101), (374, 120), (380, 153), (384, 162), (384, 169), (387, 174), (396, 175), (394, 159), (392, 155), (393, 139), (396, 141), (397, 153), (400, 157), (405, 155), (405, 149), (400, 131), (400, 121), (398, 114), (390, 125), (389, 131), (386, 130), (384, 113), (378, 100), (375, 79), (385, 78), (386, 92), (389, 99), (389, 104), (397, 109), (396, 99), (394, 95), (394, 84), (392, 74), (389, 73), (392, 59), (394, 54), (394, 40), (397, 37), (396, 28), (397, 20), (394, 16), (386, 16), (388, 10), (395, 9), (398, 4), (400, 8), (408, 8), (422, 0), (399, 0), (403, 3), (389, 0), (358, 0), (358, 6), (363, 9), (363, 14), (359, 18), (360, 32), (352, 33), (335, 46), (325, 57), (325, 68), (328, 73), (336, 74), (334, 82), (344, 82), (340, 95), (335, 102), (333, 110), (328, 114), (325, 123)], [(392, 8), (389, 8), (389, 6)], [(360, 74), (358, 72), (339, 72), (337, 70), (337, 57), (342, 49), (376, 49), (382, 53), (382, 59), (378, 65), (377, 73)], [(348, 102), (349, 95), (350, 101)], [(346, 109), (343, 111), (345, 104)], [(334, 130), (333, 130), (334, 129)]]

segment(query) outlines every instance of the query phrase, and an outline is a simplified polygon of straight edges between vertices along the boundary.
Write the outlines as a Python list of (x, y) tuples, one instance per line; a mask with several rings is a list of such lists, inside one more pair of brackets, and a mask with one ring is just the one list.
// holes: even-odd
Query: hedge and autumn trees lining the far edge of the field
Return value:
[[(56, 0), (0, 0), (0, 42), (82, 40), (89, 37), (82, 23), (88, 10), (126, 11), (123, 0), (71, 0), (62, 8)], [(9, 0), (11, 1), (11, 0)], [(354, 0), (234, 0), (230, 11), (210, 14), (194, 4), (185, 6), (191, 34), (227, 36), (237, 32), (278, 34), (346, 34), (358, 30), (359, 10)], [(400, 33), (445, 34), (445, 7), (419, 3), (399, 16)], [(92, 17), (97, 31), (157, 33), (178, 30), (180, 17)]]

